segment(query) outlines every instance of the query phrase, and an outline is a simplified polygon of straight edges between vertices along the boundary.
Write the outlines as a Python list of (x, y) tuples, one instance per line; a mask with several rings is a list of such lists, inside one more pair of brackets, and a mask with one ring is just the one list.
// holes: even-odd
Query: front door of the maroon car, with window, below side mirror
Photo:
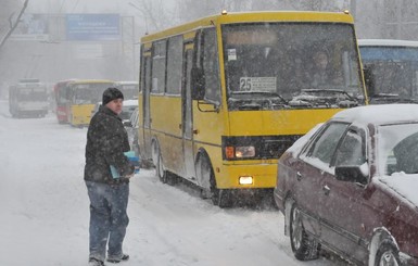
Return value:
[[(367, 165), (365, 136), (365, 129), (350, 127), (338, 144), (331, 166)], [(367, 180), (364, 183), (341, 181), (334, 178), (334, 173), (327, 173), (321, 183), (321, 239), (354, 259), (364, 256), (359, 253), (367, 249), (359, 241), (360, 230), (364, 228), (362, 205), (366, 182)]]

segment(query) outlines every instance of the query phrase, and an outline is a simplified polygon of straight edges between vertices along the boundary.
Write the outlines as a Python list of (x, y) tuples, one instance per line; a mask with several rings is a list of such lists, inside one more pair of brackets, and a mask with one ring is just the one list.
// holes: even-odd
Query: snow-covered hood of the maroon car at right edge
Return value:
[(418, 175), (395, 173), (392, 176), (380, 177), (379, 181), (400, 194), (405, 203), (413, 204), (414, 207), (418, 208)]

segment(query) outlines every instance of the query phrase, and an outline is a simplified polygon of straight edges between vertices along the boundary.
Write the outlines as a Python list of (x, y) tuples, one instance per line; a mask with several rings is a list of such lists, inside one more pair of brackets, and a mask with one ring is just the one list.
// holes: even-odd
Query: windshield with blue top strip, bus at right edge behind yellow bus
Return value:
[(373, 75), (372, 99), (418, 99), (418, 47), (360, 46), (360, 53), (364, 66)]

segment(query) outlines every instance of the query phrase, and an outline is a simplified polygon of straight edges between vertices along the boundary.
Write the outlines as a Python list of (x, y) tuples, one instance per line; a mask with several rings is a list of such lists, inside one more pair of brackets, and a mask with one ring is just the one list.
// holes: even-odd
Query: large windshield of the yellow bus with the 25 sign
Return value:
[(242, 101), (254, 99), (276, 102), (255, 103), (257, 110), (289, 106), (318, 98), (317, 91), (344, 100), (363, 96), (352, 25), (225, 25), (223, 41), (229, 110), (240, 110)]

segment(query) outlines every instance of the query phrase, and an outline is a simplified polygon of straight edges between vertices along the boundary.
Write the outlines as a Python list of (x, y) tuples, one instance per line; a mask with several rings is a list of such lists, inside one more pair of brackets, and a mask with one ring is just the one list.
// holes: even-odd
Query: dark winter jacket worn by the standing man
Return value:
[(124, 155), (127, 151), (129, 141), (122, 119), (102, 105), (87, 131), (85, 180), (109, 185), (128, 182), (128, 178), (114, 179), (110, 167), (116, 167), (121, 176), (131, 175), (135, 167)]

